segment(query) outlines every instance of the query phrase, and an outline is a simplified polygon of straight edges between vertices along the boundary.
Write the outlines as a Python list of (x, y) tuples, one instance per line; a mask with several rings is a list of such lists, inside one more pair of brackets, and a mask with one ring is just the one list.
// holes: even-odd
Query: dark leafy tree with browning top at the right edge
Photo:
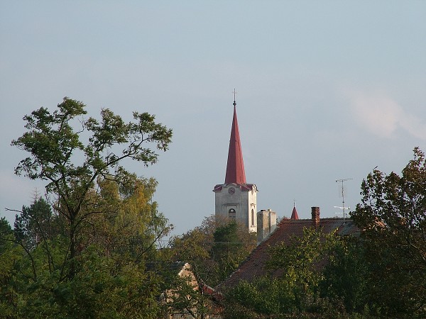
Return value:
[(371, 267), (369, 298), (386, 315), (426, 316), (426, 160), (416, 147), (402, 174), (375, 169), (352, 217)]

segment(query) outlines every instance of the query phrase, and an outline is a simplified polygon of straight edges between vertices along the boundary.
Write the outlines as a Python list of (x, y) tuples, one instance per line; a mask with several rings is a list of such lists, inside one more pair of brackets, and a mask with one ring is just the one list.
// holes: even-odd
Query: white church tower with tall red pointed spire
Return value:
[[(235, 93), (235, 92), (234, 92)], [(251, 232), (257, 230), (255, 184), (246, 183), (243, 152), (236, 119), (236, 102), (234, 94), (234, 118), (232, 119), (231, 138), (229, 140), (228, 163), (224, 184), (214, 186), (215, 215), (232, 218)]]

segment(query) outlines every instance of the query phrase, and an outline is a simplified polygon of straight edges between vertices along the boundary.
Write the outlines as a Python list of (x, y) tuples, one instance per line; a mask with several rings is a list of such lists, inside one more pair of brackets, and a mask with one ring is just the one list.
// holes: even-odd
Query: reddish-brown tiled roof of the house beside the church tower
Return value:
[[(270, 247), (281, 242), (290, 244), (292, 237), (302, 237), (303, 228), (310, 228), (313, 227), (313, 225), (312, 219), (281, 220), (275, 232), (261, 242), (261, 244), (251, 252), (249, 257), (241, 263), (239, 268), (217, 288), (220, 290), (222, 286), (234, 286), (241, 280), (251, 281), (256, 277), (265, 275), (267, 272), (272, 276), (283, 275), (283, 269), (277, 269), (273, 272), (266, 269), (266, 261), (269, 259)], [(336, 229), (338, 235), (359, 234), (359, 229), (349, 218), (321, 218), (319, 227), (324, 234), (331, 233)], [(319, 267), (321, 267), (321, 265)]]

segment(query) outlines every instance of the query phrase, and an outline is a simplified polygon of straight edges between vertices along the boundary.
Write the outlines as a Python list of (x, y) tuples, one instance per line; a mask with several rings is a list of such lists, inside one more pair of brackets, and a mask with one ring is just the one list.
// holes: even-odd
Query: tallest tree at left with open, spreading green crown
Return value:
[[(133, 159), (143, 164), (157, 161), (158, 150), (167, 150), (172, 131), (155, 123), (148, 113), (133, 112), (134, 122), (125, 123), (109, 109), (103, 109), (100, 121), (89, 117), (84, 104), (64, 98), (51, 113), (39, 108), (24, 116), (28, 130), (12, 145), (29, 152), (19, 162), (16, 174), (48, 181), (46, 191), (55, 196), (55, 211), (67, 220), (68, 252), (71, 261), (68, 276), (75, 274), (72, 260), (77, 256), (77, 240), (85, 221), (94, 213), (89, 192), (98, 177), (114, 177), (119, 183), (128, 174), (122, 162)], [(73, 125), (79, 125), (74, 128)], [(86, 136), (84, 143), (82, 137)]]

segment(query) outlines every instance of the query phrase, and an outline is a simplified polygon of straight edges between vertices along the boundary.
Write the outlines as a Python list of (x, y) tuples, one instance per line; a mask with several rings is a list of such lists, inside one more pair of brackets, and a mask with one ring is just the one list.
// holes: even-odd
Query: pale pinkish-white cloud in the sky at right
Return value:
[(415, 138), (426, 139), (425, 121), (408, 113), (386, 94), (351, 92), (349, 99), (354, 116), (371, 133), (392, 138), (401, 129)]

